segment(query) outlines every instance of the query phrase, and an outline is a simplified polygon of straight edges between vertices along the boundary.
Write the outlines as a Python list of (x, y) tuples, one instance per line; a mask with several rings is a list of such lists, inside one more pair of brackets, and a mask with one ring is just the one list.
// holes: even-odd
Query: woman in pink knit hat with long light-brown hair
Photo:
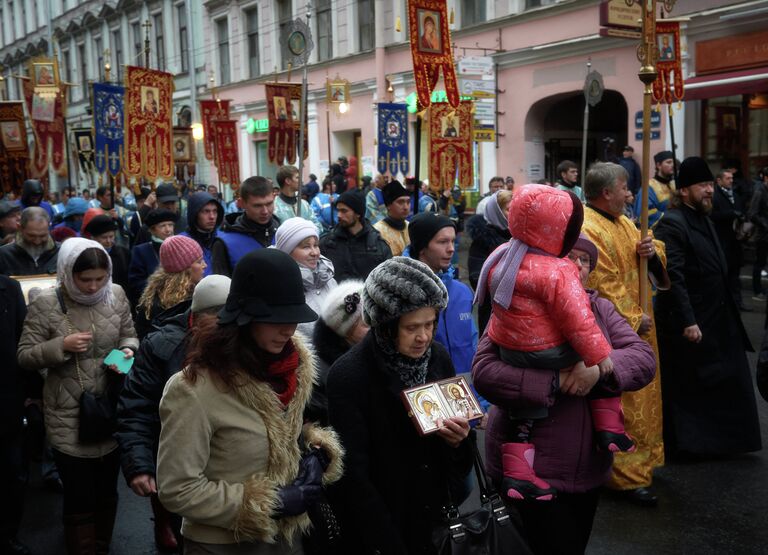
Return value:
[(203, 250), (184, 235), (168, 237), (160, 245), (160, 266), (149, 276), (147, 287), (136, 307), (136, 333), (142, 339), (152, 322), (180, 314), (189, 308), (195, 285), (205, 271)]

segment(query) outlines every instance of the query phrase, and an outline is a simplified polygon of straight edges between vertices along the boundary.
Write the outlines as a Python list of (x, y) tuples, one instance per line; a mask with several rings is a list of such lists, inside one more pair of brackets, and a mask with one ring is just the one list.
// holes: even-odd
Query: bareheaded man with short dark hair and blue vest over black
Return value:
[(242, 212), (224, 216), (218, 233), (221, 241), (211, 247), (214, 274), (231, 276), (237, 262), (247, 253), (275, 244), (280, 220), (274, 216), (272, 185), (256, 175), (243, 181), (239, 192), (237, 204)]

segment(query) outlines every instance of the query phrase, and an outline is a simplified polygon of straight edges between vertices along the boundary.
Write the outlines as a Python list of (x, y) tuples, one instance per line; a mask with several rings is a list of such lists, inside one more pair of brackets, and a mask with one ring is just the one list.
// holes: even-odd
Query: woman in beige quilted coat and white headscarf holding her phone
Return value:
[[(80, 396), (120, 386), (104, 358), (138, 348), (128, 299), (112, 283), (112, 262), (95, 241), (73, 238), (61, 246), (57, 287), (30, 305), (19, 341), (19, 364), (48, 369), (43, 388), (45, 426), (64, 484), (64, 530), (70, 554), (107, 553), (117, 509), (117, 443), (79, 439)], [(116, 397), (115, 397), (116, 398)]]

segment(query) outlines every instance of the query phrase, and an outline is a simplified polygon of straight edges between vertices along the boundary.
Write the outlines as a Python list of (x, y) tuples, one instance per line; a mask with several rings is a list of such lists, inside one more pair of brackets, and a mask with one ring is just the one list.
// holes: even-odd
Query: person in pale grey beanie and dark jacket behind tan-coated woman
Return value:
[(195, 286), (191, 307), (157, 321), (157, 330), (141, 342), (131, 372), (120, 393), (117, 433), (120, 464), (136, 495), (150, 497), (155, 515), (155, 543), (161, 549), (178, 547), (181, 519), (157, 499), (155, 459), (160, 437), (158, 407), (168, 379), (181, 370), (187, 331), (201, 318), (215, 318), (229, 294), (230, 279), (211, 275)]

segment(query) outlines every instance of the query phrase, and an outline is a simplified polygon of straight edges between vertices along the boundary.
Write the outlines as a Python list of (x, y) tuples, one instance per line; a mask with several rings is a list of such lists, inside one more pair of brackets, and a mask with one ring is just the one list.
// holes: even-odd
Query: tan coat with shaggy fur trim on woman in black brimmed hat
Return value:
[[(315, 379), (314, 355), (299, 336), (294, 343), (298, 385), (285, 410), (268, 384), (245, 376), (235, 391), (222, 391), (207, 373), (194, 384), (184, 372), (168, 381), (160, 402), (157, 483), (163, 505), (184, 517), (185, 537), (210, 544), (293, 542), (309, 527), (306, 513), (273, 517), (278, 488), (298, 472), (298, 438)], [(331, 458), (324, 482), (338, 480), (336, 433), (310, 424), (304, 436)]]

